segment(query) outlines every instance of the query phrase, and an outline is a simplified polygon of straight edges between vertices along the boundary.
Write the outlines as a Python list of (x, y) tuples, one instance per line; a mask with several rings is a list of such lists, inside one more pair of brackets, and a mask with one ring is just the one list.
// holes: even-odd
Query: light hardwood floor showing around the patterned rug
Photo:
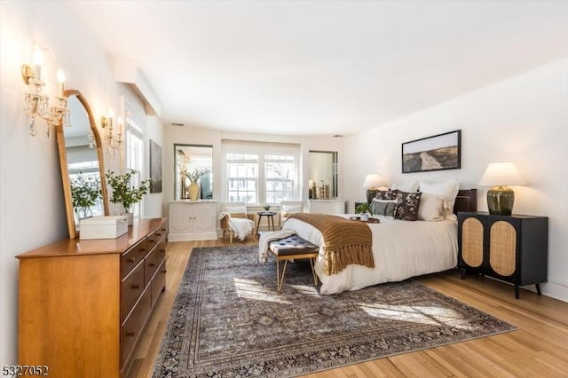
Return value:
[[(135, 350), (131, 377), (152, 375), (154, 358), (191, 249), (226, 244), (228, 241), (223, 240), (168, 244), (166, 291)], [(457, 270), (416, 280), (508, 321), (519, 330), (305, 377), (568, 377), (568, 303), (528, 290), (521, 290), (520, 299), (515, 299), (512, 286), (474, 275), (461, 280)]]

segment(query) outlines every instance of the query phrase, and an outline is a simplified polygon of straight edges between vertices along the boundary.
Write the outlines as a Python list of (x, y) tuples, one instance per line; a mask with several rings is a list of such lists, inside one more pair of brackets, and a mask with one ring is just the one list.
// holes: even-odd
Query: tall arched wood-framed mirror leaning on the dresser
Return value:
[(67, 90), (70, 127), (56, 127), (61, 180), (69, 238), (78, 235), (83, 217), (108, 215), (108, 198), (99, 130), (91, 107), (80, 91)]

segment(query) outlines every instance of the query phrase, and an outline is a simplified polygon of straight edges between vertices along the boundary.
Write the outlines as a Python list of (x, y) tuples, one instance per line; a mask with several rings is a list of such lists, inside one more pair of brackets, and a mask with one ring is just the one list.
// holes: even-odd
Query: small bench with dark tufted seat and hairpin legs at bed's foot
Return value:
[[(313, 283), (318, 287), (318, 275), (313, 268), (313, 263), (319, 255), (319, 247), (308, 240), (300, 238), (298, 235), (291, 235), (288, 238), (272, 240), (268, 243), (268, 250), (276, 256), (276, 286), (278, 291), (282, 291), (282, 283), (286, 274), (288, 260), (299, 260), (302, 258), (310, 259), (312, 266)], [(284, 260), (282, 275), (280, 276), (280, 261)]]

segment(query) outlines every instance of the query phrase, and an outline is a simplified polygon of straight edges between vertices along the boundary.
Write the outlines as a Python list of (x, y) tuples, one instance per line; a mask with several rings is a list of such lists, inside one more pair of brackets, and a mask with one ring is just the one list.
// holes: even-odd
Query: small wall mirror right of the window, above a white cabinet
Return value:
[(337, 167), (336, 151), (310, 151), (309, 199), (337, 198)]

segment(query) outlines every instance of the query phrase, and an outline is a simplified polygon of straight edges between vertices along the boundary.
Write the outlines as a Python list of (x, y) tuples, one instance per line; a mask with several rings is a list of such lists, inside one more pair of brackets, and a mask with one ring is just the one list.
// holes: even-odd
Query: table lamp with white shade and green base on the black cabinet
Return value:
[(526, 185), (515, 164), (509, 161), (489, 163), (480, 186), (492, 186), (487, 191), (487, 208), (489, 214), (510, 216), (513, 212), (515, 192), (506, 185)]

